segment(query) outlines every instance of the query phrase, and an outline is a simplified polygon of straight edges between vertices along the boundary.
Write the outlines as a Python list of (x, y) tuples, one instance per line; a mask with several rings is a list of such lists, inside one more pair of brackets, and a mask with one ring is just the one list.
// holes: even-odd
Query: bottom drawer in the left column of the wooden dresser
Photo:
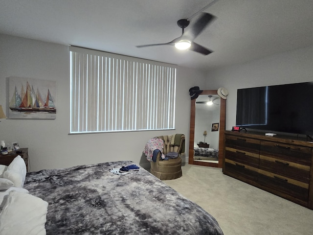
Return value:
[(254, 185), (258, 179), (258, 169), (246, 164), (225, 159), (224, 174)]

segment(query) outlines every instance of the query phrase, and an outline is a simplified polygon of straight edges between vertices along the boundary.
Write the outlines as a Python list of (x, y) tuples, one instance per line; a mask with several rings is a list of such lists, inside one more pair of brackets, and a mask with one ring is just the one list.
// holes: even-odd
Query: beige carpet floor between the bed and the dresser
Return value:
[(313, 211), (226, 176), (221, 168), (185, 164), (163, 181), (200, 205), (224, 235), (313, 235)]

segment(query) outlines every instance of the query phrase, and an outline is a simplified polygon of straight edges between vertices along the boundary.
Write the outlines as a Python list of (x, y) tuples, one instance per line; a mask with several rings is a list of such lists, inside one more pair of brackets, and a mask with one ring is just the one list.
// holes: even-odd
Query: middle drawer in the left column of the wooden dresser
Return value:
[(250, 165), (253, 167), (259, 167), (259, 154), (247, 152), (244, 150), (238, 150), (231, 147), (225, 147), (225, 159)]

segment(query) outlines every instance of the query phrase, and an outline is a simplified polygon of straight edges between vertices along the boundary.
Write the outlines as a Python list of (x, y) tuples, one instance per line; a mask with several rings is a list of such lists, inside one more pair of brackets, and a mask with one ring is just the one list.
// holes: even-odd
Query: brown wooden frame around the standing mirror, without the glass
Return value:
[[(217, 90), (206, 90), (200, 95), (214, 95)], [(194, 141), (195, 141), (195, 119), (196, 119), (196, 99), (191, 100), (190, 108), (190, 133), (189, 133), (189, 164), (204, 165), (213, 167), (223, 167), (224, 164), (224, 132), (225, 132), (225, 118), (226, 118), (226, 100), (221, 98), (220, 104), (220, 136), (219, 136), (219, 163), (206, 163), (194, 160)]]

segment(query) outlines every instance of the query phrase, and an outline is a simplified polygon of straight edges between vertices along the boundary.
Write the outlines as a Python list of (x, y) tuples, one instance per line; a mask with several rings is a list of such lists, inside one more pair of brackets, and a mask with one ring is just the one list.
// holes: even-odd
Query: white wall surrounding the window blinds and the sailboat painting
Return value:
[[(204, 73), (178, 68), (176, 130), (68, 135), (69, 132), (69, 51), (67, 46), (0, 34), (0, 104), (7, 107), (5, 78), (18, 76), (57, 81), (55, 120), (4, 119), (0, 140), (18, 141), (28, 147), (31, 171), (79, 164), (131, 160), (147, 164), (142, 156), (152, 137), (183, 133), (188, 157), (189, 88), (204, 87)], [(99, 147), (100, 146), (100, 147)], [(148, 164), (149, 165), (149, 164)]]

